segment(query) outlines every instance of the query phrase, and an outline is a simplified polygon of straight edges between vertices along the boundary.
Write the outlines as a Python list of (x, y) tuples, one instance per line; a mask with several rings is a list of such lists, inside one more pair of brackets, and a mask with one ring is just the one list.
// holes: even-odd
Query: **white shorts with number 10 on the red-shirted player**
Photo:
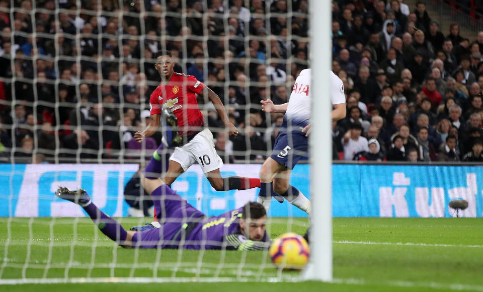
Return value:
[(201, 166), (203, 173), (223, 166), (223, 162), (215, 150), (213, 134), (209, 129), (202, 130), (185, 145), (176, 147), (170, 160), (181, 164), (183, 171), (187, 171), (196, 163)]

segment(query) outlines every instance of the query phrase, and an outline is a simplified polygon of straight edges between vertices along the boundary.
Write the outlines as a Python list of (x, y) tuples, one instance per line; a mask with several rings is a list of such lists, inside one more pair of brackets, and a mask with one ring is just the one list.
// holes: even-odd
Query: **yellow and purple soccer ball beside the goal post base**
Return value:
[(268, 252), (278, 268), (286, 269), (302, 269), (310, 254), (305, 239), (295, 233), (285, 233), (277, 237)]

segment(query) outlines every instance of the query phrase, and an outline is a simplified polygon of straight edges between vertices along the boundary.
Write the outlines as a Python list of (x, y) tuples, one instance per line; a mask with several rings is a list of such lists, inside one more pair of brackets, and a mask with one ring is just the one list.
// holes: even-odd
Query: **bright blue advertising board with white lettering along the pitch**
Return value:
[[(224, 165), (226, 176), (258, 177), (261, 165)], [(56, 198), (58, 186), (82, 187), (111, 216), (127, 216), (123, 188), (135, 164), (0, 165), (0, 216), (85, 216), (75, 204)], [(310, 198), (310, 166), (297, 165), (290, 183)], [(336, 217), (452, 217), (448, 203), (465, 199), (459, 216), (483, 217), (483, 171), (475, 166), (333, 165), (333, 215)], [(207, 215), (218, 215), (256, 200), (259, 189), (215, 191), (200, 168), (191, 167), (172, 187)], [(313, 195), (329, 195), (317, 190)], [(284, 202), (272, 201), (269, 215), (306, 216)]]

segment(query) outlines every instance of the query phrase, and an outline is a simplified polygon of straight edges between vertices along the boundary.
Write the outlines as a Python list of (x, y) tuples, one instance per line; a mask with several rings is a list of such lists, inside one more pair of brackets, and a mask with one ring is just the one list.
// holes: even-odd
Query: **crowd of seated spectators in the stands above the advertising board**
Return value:
[[(260, 101), (287, 102), (308, 66), (307, 2), (0, 0), (0, 156), (139, 150), (133, 134), (160, 82), (151, 57), (166, 48), (241, 130), (228, 137), (201, 98), (225, 163), (263, 161), (283, 115)], [(424, 2), (339, 0), (332, 10), (332, 69), (348, 108), (333, 123), (334, 159), (483, 161), (483, 32), (469, 40), (454, 23), (443, 34)]]

